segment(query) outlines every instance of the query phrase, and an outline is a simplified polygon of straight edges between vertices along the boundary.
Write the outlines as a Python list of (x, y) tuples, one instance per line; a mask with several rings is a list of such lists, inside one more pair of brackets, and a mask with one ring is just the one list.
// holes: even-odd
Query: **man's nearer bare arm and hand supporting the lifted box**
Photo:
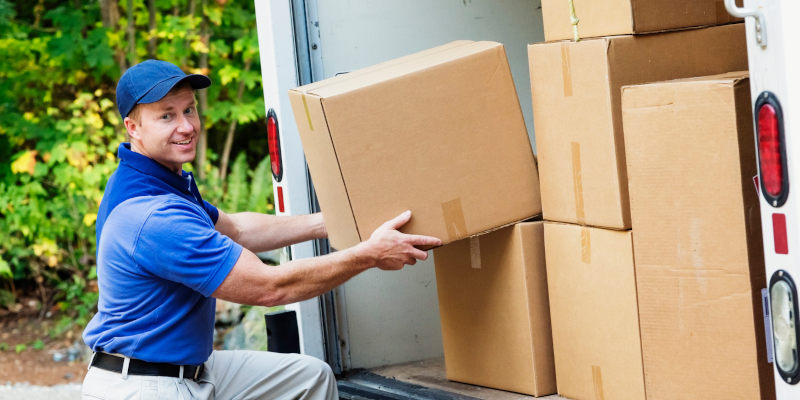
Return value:
[(319, 296), (369, 268), (400, 270), (404, 265), (414, 265), (428, 258), (427, 252), (414, 246), (441, 246), (442, 241), (398, 232), (409, 219), (411, 212), (406, 211), (353, 248), (277, 267), (265, 266), (244, 249), (228, 277), (211, 295), (239, 304), (272, 307)]

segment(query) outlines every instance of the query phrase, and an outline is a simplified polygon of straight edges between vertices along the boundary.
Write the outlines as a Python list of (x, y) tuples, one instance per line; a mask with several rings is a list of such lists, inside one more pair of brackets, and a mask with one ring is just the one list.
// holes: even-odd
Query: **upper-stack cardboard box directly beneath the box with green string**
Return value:
[(629, 229), (620, 89), (747, 69), (744, 25), (529, 46), (544, 219)]

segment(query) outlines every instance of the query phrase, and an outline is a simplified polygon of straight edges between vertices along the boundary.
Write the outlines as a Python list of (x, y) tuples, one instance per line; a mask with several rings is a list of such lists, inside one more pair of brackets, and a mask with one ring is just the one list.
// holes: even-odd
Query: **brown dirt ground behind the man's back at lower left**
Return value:
[[(83, 382), (86, 376), (86, 364), (83, 361), (53, 361), (54, 353), (63, 353), (76, 340), (80, 340), (80, 331), (74, 329), (50, 339), (47, 332), (55, 321), (56, 317), (39, 320), (35, 315), (16, 313), (0, 316), (0, 385), (27, 382), (52, 386)], [(44, 349), (33, 348), (37, 339), (44, 342)], [(19, 344), (27, 348), (17, 353)]]

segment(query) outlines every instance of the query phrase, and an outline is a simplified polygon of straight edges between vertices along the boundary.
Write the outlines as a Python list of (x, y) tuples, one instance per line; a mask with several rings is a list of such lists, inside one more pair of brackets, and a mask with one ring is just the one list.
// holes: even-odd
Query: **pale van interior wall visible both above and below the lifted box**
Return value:
[[(541, 0), (308, 4), (316, 7), (319, 18), (317, 51), (322, 53), (324, 78), (459, 39), (503, 43), (535, 146), (527, 45), (544, 40)], [(413, 187), (413, 182), (397, 184)], [(432, 255), (400, 272), (367, 271), (347, 282), (343, 292), (347, 324), (343, 336), (349, 349), (344, 364), (349, 369), (443, 355)]]

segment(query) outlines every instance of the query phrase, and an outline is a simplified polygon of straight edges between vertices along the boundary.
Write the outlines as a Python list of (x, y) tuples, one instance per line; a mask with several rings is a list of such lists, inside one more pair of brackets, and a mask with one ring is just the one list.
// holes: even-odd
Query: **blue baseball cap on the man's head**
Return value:
[(155, 103), (164, 98), (175, 85), (187, 81), (192, 89), (211, 86), (205, 75), (186, 75), (175, 64), (147, 60), (128, 68), (117, 83), (117, 109), (122, 118), (137, 104)]

